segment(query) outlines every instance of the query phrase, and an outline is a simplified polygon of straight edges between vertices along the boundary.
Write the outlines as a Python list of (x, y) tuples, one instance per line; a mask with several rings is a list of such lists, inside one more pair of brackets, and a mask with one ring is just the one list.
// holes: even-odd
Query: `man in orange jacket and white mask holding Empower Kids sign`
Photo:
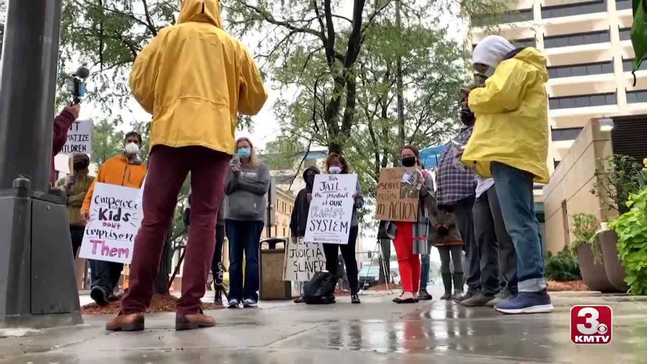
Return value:
[[(97, 182), (120, 185), (124, 187), (140, 188), (146, 177), (146, 166), (138, 156), (142, 137), (135, 131), (126, 134), (124, 139), (124, 154), (115, 155), (107, 159), (96, 174), (92, 185), (85, 194), (81, 207), (81, 216), (84, 222), (90, 220), (90, 208), (94, 185)], [(104, 260), (90, 260), (91, 286), (90, 297), (97, 304), (104, 306), (108, 301), (113, 301), (115, 288), (119, 284), (124, 264), (105, 262)]]

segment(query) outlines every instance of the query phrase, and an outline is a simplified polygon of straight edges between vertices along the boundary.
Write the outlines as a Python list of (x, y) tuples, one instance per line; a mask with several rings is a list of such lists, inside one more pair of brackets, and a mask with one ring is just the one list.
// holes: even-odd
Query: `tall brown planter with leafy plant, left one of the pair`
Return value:
[(573, 215), (575, 241), (571, 245), (571, 251), (577, 257), (582, 279), (590, 290), (614, 292), (617, 288), (609, 282), (602, 261), (602, 249), (596, 234), (598, 227), (598, 220), (593, 214)]

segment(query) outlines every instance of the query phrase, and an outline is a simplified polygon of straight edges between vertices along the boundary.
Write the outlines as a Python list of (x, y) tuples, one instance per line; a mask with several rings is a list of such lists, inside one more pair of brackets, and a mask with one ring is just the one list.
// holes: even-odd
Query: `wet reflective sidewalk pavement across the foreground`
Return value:
[[(438, 292), (434, 296), (437, 297)], [(146, 331), (107, 333), (110, 317), (0, 339), (0, 363), (645, 363), (647, 302), (626, 297), (553, 295), (551, 314), (505, 316), (490, 308), (430, 301), (397, 305), (366, 295), (352, 305), (261, 302), (257, 310), (209, 312), (218, 326), (175, 332), (173, 313), (146, 317)], [(613, 308), (610, 345), (570, 341), (574, 304)], [(21, 334), (14, 332), (14, 334)], [(24, 333), (23, 333), (24, 334)], [(7, 335), (7, 332), (4, 333)]]

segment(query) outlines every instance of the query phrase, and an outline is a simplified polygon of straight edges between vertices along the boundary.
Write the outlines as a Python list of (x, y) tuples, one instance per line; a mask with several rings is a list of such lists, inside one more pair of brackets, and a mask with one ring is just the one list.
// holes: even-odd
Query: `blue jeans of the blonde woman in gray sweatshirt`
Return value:
[[(258, 255), (263, 222), (225, 220), (229, 240), (229, 293), (227, 299), (258, 301)], [(243, 286), (243, 253), (245, 282)]]

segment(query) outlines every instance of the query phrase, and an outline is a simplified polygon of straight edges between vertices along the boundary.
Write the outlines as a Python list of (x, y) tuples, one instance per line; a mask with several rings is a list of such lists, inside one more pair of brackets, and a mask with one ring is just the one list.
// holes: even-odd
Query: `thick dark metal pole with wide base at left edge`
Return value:
[(82, 323), (62, 190), (50, 190), (61, 0), (10, 0), (0, 80), (0, 327)]

